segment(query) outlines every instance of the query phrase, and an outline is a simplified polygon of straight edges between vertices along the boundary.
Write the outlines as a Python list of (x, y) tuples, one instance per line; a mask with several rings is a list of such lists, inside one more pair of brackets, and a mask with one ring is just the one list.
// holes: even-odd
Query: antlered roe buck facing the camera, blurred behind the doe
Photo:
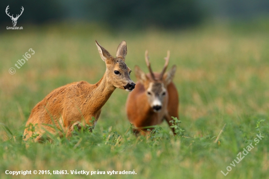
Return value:
[[(148, 129), (154, 129), (152, 126), (161, 124), (163, 120), (172, 126), (171, 117), (179, 118), (179, 95), (172, 82), (176, 66), (165, 73), (169, 58), (168, 50), (161, 73), (153, 72), (146, 50), (145, 61), (150, 73), (146, 74), (138, 66), (134, 67), (137, 82), (135, 90), (128, 95), (126, 112), (130, 123), (134, 125), (133, 132), (136, 135), (148, 134)], [(171, 129), (175, 134), (174, 128)]]

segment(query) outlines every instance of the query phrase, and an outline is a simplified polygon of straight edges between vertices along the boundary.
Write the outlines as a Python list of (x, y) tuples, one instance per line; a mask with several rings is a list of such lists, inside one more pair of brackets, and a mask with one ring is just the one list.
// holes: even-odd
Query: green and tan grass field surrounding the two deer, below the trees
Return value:
[[(2, 31), (0, 39), (1, 179), (269, 178), (268, 21), (122, 33), (94, 25), (24, 25), (23, 30)], [(93, 133), (55, 137), (52, 144), (28, 142), (25, 148), (24, 126), (39, 101), (67, 83), (93, 84), (103, 76), (106, 67), (95, 40), (112, 55), (125, 40), (126, 64), (145, 71), (146, 49), (154, 71), (162, 69), (170, 50), (169, 67), (177, 65), (174, 83), (184, 136), (171, 135), (164, 122), (148, 139), (135, 137), (125, 112), (128, 92), (116, 89)], [(15, 63), (29, 48), (35, 54), (18, 69)], [(16, 68), (13, 75), (8, 72), (11, 67)], [(136, 81), (134, 73), (131, 78)], [(254, 141), (257, 134), (264, 136), (259, 143)], [(233, 162), (249, 145), (253, 149), (239, 163)], [(221, 171), (227, 169), (231, 171), (224, 176)], [(15, 177), (6, 170), (67, 170), (69, 175)], [(71, 175), (70, 170), (134, 170), (136, 175)]]

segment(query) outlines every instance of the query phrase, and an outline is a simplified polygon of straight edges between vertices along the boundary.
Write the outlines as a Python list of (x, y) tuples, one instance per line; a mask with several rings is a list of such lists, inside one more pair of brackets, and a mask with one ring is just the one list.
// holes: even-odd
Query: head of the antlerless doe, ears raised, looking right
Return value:
[(116, 88), (132, 91), (134, 90), (134, 82), (130, 78), (131, 69), (125, 64), (125, 57), (127, 54), (126, 42), (122, 41), (117, 48), (116, 58), (97, 41), (96, 46), (100, 53), (102, 60), (106, 63), (106, 79), (108, 83)]

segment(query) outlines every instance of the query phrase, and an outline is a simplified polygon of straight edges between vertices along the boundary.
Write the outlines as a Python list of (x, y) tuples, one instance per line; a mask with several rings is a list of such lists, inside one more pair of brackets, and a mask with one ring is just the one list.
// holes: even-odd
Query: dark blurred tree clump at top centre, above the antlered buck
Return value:
[(197, 0), (91, 0), (89, 19), (117, 26), (180, 27), (202, 20)]

